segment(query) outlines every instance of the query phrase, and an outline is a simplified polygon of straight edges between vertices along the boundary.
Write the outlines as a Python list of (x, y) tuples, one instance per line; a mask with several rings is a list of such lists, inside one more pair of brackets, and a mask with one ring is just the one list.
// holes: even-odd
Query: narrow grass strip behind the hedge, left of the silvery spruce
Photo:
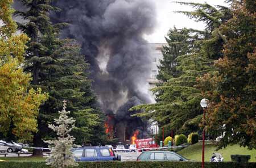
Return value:
[(0, 157), (0, 162), (4, 161), (22, 161), (22, 162), (44, 162), (45, 157), (34, 157), (34, 156), (24, 156), (24, 157)]

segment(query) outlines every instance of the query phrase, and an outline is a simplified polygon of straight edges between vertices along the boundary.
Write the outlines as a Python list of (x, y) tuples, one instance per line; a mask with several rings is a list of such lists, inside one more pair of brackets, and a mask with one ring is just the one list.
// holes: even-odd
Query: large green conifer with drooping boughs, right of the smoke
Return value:
[[(207, 24), (205, 31), (189, 30), (169, 33), (169, 46), (163, 50), (162, 65), (159, 66), (159, 79), (164, 78), (163, 84), (153, 89), (156, 95), (155, 104), (146, 104), (133, 109), (144, 109), (140, 116), (152, 117), (158, 121), (160, 127), (169, 127), (180, 133), (189, 133), (199, 130), (199, 123), (203, 111), (200, 107), (202, 98), (200, 90), (195, 87), (196, 79), (213, 70), (215, 57), (221, 57), (220, 50), (224, 44), (224, 37), (216, 31), (221, 22), (226, 22), (230, 10), (225, 7), (213, 7), (206, 3), (184, 3), (196, 8), (195, 11), (178, 11), (188, 15), (198, 22)], [(185, 29), (184, 29), (185, 30)], [(171, 30), (170, 32), (174, 32)], [(176, 41), (177, 36), (183, 36)], [(183, 50), (177, 55), (174, 44)], [(209, 48), (210, 47), (210, 48)], [(168, 50), (167, 50), (168, 48)], [(166, 52), (167, 51), (167, 52)], [(216, 56), (216, 53), (218, 55)], [(174, 67), (169, 69), (169, 60), (174, 60)], [(164, 72), (164, 73), (163, 73)]]

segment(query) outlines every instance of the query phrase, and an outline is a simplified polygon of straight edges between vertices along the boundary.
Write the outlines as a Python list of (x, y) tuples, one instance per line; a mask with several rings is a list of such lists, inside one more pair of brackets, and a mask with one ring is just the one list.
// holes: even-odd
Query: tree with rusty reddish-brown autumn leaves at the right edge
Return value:
[(217, 72), (200, 78), (200, 89), (211, 104), (207, 126), (215, 137), (224, 135), (218, 148), (239, 143), (256, 148), (256, 3), (234, 3), (233, 18), (220, 31), (226, 38)]

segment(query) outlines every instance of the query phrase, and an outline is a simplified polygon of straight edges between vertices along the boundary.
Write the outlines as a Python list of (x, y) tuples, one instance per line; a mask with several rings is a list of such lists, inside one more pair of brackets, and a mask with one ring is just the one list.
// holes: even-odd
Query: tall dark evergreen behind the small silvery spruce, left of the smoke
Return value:
[[(103, 119), (91, 90), (89, 65), (80, 54), (80, 45), (75, 40), (59, 38), (61, 28), (67, 24), (51, 23), (49, 12), (56, 9), (51, 6), (51, 1), (21, 2), (28, 10), (16, 12), (26, 19), (26, 23), (19, 23), (19, 28), (31, 37), (26, 70), (33, 74), (33, 86), (40, 86), (49, 93), (49, 100), (40, 108), (39, 132), (35, 135), (34, 145), (43, 146), (42, 140), (55, 136), (47, 125), (57, 116), (56, 110), (61, 109), (63, 99), (67, 100), (67, 109), (76, 119), (76, 128), (72, 132), (76, 143), (90, 141), (93, 129), (100, 127)], [(98, 138), (102, 136), (103, 130)]]

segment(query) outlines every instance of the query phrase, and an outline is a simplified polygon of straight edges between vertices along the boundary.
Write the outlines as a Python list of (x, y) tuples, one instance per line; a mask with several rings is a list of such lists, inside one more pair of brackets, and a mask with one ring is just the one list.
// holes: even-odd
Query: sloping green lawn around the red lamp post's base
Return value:
[[(210, 142), (205, 142), (205, 161), (209, 162), (210, 156), (212, 153), (216, 151), (216, 146), (210, 144)], [(197, 144), (188, 146), (177, 152), (184, 156), (185, 158), (194, 160), (194, 161), (201, 161), (202, 158), (202, 142), (198, 142)], [(225, 149), (218, 150), (217, 153), (221, 153), (224, 161), (231, 161), (230, 155), (232, 154), (246, 154), (250, 155), (251, 159), (250, 162), (256, 162), (256, 150), (248, 150), (247, 148), (240, 147), (239, 145), (232, 145), (227, 146)]]

